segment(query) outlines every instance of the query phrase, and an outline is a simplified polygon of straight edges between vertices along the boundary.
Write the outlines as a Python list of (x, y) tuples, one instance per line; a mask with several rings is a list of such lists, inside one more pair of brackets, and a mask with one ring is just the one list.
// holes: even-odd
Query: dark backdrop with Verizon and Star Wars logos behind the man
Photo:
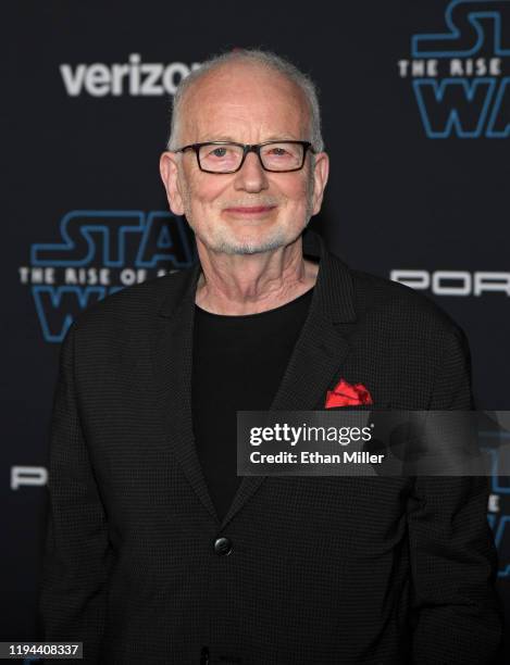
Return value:
[[(40, 637), (48, 429), (67, 327), (97, 300), (196, 261), (159, 155), (176, 86), (211, 54), (266, 48), (312, 76), (332, 170), (311, 226), (352, 267), (445, 309), (470, 340), (477, 407), (510, 410), (509, 0), (2, 11), (1, 640)], [(490, 484), (510, 617), (510, 478), (497, 457)]]

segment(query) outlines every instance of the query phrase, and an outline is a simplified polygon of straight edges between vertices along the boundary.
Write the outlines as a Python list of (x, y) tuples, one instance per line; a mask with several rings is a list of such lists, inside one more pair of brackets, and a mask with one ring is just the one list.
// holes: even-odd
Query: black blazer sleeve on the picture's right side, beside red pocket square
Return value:
[[(473, 409), (470, 351), (456, 329), (430, 410)], [(408, 505), (415, 665), (493, 663), (502, 636), (485, 476), (419, 476)]]

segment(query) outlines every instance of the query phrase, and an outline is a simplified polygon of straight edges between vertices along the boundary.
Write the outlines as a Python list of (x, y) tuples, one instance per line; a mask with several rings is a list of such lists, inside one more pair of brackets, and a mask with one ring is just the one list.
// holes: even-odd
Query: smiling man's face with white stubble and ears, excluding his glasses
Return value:
[[(182, 106), (179, 147), (229, 140), (261, 143), (310, 139), (306, 100), (284, 76), (253, 65), (227, 65), (190, 88)], [(199, 170), (192, 150), (166, 152), (161, 175), (172, 211), (186, 218), (209, 250), (254, 253), (286, 246), (320, 210), (327, 155), (309, 152), (301, 171), (270, 173), (249, 152), (233, 174)]]

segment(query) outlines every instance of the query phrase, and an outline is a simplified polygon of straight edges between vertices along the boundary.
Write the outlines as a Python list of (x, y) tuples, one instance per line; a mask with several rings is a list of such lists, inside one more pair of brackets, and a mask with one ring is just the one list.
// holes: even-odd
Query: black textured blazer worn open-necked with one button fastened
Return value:
[[(320, 269), (272, 410), (323, 409), (341, 377), (375, 409), (472, 407), (467, 341), (441, 310), (303, 241)], [(45, 639), (108, 665), (490, 663), (486, 478), (245, 477), (217, 519), (191, 426), (199, 271), (96, 303), (61, 347)]]

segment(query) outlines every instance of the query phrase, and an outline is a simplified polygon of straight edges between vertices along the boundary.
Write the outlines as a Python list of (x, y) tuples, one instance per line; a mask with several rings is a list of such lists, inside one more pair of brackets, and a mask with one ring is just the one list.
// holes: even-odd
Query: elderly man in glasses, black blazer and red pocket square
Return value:
[(490, 663), (485, 478), (236, 475), (239, 410), (472, 406), (460, 328), (307, 228), (328, 175), (313, 84), (268, 52), (208, 61), (161, 175), (199, 261), (66, 335), (46, 639), (122, 665)]

